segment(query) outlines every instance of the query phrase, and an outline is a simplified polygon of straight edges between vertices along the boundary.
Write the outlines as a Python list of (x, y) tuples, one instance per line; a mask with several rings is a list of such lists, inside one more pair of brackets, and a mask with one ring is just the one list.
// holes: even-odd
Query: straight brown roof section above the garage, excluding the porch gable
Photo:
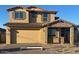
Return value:
[(29, 28), (37, 28), (42, 27), (42, 23), (6, 23), (4, 26), (16, 26), (16, 27), (29, 27)]

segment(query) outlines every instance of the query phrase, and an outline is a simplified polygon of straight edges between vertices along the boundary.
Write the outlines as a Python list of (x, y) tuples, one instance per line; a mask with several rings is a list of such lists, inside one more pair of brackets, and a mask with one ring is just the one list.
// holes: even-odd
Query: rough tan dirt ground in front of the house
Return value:
[[(21, 47), (22, 45), (0, 45), (0, 49), (5, 48), (14, 48), (14, 47)], [(26, 46), (26, 45), (23, 45)], [(44, 50), (17, 50), (17, 51), (2, 51), (1, 54), (79, 54), (79, 47), (78, 46), (69, 46), (69, 45), (48, 45), (45, 47)]]

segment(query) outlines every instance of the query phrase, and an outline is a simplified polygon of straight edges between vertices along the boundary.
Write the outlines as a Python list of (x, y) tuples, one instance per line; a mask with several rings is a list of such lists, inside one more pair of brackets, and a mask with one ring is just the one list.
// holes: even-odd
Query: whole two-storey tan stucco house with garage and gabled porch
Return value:
[(30, 6), (9, 8), (6, 44), (41, 43), (74, 45), (75, 25), (58, 20), (57, 11)]

